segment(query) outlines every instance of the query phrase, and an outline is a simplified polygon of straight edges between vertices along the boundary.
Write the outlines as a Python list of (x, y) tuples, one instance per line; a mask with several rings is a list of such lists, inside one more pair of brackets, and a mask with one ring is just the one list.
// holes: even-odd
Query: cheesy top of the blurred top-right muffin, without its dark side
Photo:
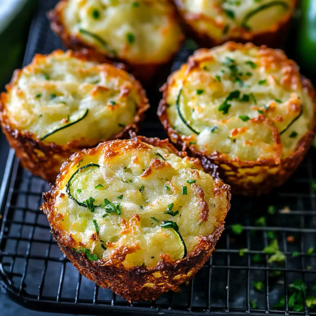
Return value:
[(276, 30), (293, 14), (296, 0), (175, 0), (198, 32), (217, 42), (224, 37), (250, 39), (250, 34)]

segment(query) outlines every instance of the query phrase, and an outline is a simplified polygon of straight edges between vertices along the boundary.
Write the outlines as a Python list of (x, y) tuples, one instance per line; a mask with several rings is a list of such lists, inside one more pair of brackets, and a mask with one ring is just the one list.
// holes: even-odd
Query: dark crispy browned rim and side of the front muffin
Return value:
[[(142, 136), (136, 137), (135, 134), (133, 138), (134, 140), (148, 143), (153, 146), (167, 148), (170, 152), (174, 152), (180, 157), (186, 156), (185, 152), (177, 151), (167, 139), (160, 140), (159, 138), (146, 138)], [(86, 154), (93, 154), (100, 146), (103, 146), (103, 144), (104, 143), (100, 143), (98, 147), (83, 150), (83, 152)], [(80, 159), (80, 153), (73, 154), (72, 157), (74, 157), (74, 159)], [(214, 232), (209, 236), (200, 236), (195, 249), (188, 253), (183, 259), (174, 261), (168, 255), (162, 255), (161, 261), (155, 267), (148, 268), (147, 266), (136, 266), (127, 269), (122, 263), (115, 262), (117, 259), (119, 259), (119, 262), (122, 262), (121, 257), (124, 256), (125, 258), (127, 249), (122, 249), (122, 252), (116, 253), (115, 257), (107, 262), (106, 260), (101, 259), (98, 261), (89, 261), (84, 254), (79, 254), (71, 250), (73, 242), (71, 236), (69, 236), (69, 238), (63, 237), (61, 232), (52, 226), (54, 219), (55, 197), (58, 196), (59, 193), (57, 186), (64, 178), (65, 173), (67, 173), (70, 164), (73, 163), (70, 159), (63, 163), (60, 169), (61, 173), (58, 175), (56, 184), (51, 185), (50, 191), (43, 193), (44, 203), (42, 209), (47, 215), (51, 232), (54, 239), (61, 247), (61, 250), (80, 271), (80, 273), (88, 279), (93, 280), (103, 288), (108, 287), (112, 289), (116, 294), (122, 296), (127, 301), (153, 301), (163, 292), (177, 290), (180, 284), (191, 279), (209, 259), (217, 240), (224, 230), (224, 219), (230, 208), (231, 199), (230, 187), (229, 185), (224, 184), (217, 177), (216, 166), (210, 164), (209, 172), (213, 173), (213, 178), (216, 180), (216, 194), (226, 192), (228, 204), (227, 209), (222, 210), (218, 226)], [(200, 164), (200, 161), (197, 158), (194, 162)], [(157, 273), (160, 273), (161, 276), (157, 276)], [(146, 283), (153, 283), (154, 286), (144, 286)]]

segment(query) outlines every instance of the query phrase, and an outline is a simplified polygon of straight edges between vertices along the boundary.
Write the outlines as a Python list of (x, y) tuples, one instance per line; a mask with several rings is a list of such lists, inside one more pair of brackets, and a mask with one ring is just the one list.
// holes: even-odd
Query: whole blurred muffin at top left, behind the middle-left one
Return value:
[(146, 84), (184, 39), (169, 0), (62, 0), (49, 18), (66, 47), (122, 61)]

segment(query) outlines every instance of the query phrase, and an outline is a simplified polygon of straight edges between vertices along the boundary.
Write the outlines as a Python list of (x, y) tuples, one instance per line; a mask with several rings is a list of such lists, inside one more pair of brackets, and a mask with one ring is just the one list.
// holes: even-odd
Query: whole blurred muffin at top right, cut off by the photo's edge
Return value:
[(297, 0), (174, 0), (188, 32), (203, 47), (227, 40), (280, 47)]

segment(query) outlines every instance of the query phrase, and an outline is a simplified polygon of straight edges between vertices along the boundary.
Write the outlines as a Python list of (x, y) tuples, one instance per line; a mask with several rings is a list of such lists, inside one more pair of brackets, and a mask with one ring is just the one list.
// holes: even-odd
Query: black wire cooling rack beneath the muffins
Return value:
[[(45, 14), (55, 3), (40, 1), (31, 24), (24, 64), (29, 63), (36, 52), (49, 53), (62, 47), (49, 29)], [(174, 68), (184, 62), (190, 52), (182, 50)], [(148, 96), (151, 109), (141, 134), (166, 137), (155, 114), (161, 97), (158, 89), (148, 91)], [(50, 312), (316, 315), (316, 309), (309, 311), (306, 304), (302, 312), (295, 312), (290, 302), (290, 284), (295, 280), (307, 285), (307, 296), (316, 293), (312, 290), (316, 284), (316, 256), (310, 251), (312, 247), (316, 249), (315, 158), (316, 149), (311, 149), (295, 175), (268, 196), (233, 196), (226, 229), (213, 256), (194, 279), (181, 286), (179, 292), (166, 293), (155, 302), (130, 304), (81, 276), (65, 258), (52, 239), (46, 216), (39, 210), (41, 194), (49, 185), (23, 170), (11, 150), (0, 191), (1, 288), (25, 307)], [(267, 211), (271, 205), (276, 210), (274, 214)], [(235, 223), (242, 225), (239, 235), (232, 230), (231, 225)], [(270, 255), (263, 249), (271, 238), (278, 240), (280, 251), (285, 255), (283, 262), (268, 263)], [(274, 307), (282, 297), (285, 297), (284, 307)]]

